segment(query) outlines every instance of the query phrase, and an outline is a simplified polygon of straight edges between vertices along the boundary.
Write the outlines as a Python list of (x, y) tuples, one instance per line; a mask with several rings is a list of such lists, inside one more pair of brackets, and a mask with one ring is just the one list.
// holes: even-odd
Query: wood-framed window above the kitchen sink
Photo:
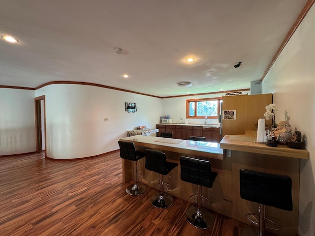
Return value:
[(186, 118), (218, 118), (221, 97), (186, 100)]

